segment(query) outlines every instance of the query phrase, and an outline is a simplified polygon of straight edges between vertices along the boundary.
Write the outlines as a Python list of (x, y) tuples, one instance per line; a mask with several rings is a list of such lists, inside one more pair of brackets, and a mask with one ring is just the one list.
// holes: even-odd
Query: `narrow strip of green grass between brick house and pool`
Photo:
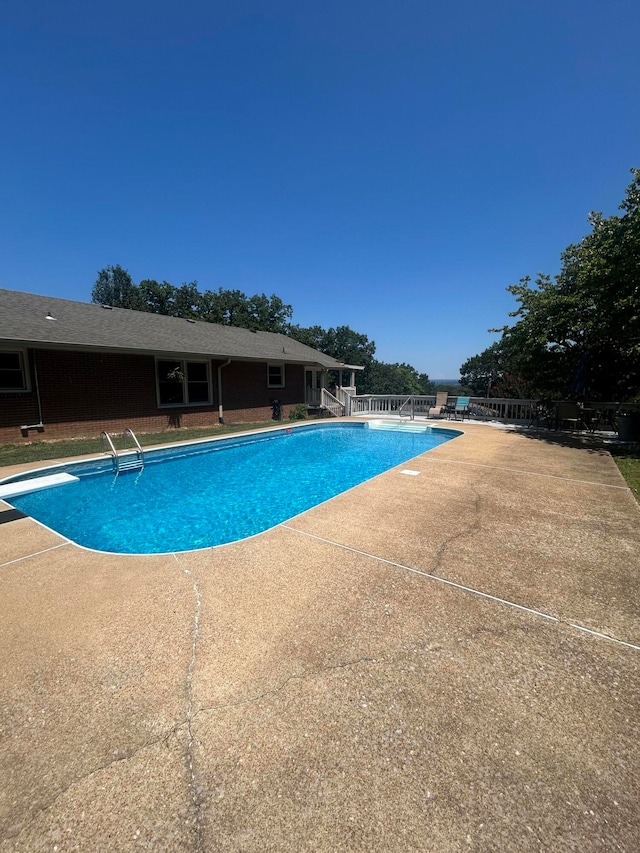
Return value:
[[(242, 432), (249, 429), (264, 429), (275, 426), (274, 421), (252, 424), (215, 424), (197, 429), (172, 429), (164, 432), (141, 433), (137, 435), (142, 447), (154, 444), (172, 444), (176, 441), (192, 441)], [(280, 423), (279, 426), (283, 426)], [(117, 450), (122, 450), (122, 436), (111, 436)], [(129, 441), (131, 448), (131, 441)], [(50, 459), (64, 459), (69, 456), (82, 456), (85, 453), (100, 454), (100, 438), (73, 438), (60, 441), (33, 441), (30, 444), (4, 444), (0, 446), (0, 467), (5, 465), (24, 465), (29, 462), (45, 462)]]

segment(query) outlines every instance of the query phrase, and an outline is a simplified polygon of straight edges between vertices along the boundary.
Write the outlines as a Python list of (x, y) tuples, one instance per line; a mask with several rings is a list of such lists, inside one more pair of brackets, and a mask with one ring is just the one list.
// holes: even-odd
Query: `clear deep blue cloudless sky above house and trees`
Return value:
[(3, 0), (0, 287), (277, 294), (432, 378), (640, 166), (637, 0)]

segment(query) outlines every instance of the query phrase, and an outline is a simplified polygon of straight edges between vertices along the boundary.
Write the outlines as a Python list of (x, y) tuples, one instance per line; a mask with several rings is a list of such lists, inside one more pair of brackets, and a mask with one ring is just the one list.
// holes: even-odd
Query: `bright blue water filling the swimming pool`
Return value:
[(79, 482), (10, 502), (98, 551), (187, 551), (267, 530), (456, 435), (314, 424), (148, 451), (117, 477), (110, 458), (56, 467)]

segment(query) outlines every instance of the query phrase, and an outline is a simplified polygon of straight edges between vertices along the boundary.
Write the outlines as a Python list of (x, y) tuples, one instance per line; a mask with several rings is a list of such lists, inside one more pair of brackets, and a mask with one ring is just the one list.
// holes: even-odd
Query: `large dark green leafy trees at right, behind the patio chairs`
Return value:
[(461, 382), (499, 397), (640, 399), (640, 169), (619, 206), (591, 213), (591, 231), (561, 255), (560, 273), (507, 290), (513, 325), (468, 359)]

